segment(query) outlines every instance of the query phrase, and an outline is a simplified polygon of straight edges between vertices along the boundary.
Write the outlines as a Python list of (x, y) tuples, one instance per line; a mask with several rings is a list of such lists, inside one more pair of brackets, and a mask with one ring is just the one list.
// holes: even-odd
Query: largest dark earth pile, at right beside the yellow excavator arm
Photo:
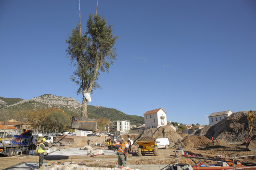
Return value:
[[(253, 111), (256, 114), (256, 111)], [(244, 126), (247, 120), (247, 112), (232, 113), (229, 117), (218, 122), (216, 125), (208, 125), (203, 129), (194, 132), (194, 136), (205, 136), (207, 138), (221, 139), (227, 143), (244, 142)], [(253, 134), (256, 134), (253, 132)], [(252, 136), (252, 141), (256, 142), (256, 136)]]

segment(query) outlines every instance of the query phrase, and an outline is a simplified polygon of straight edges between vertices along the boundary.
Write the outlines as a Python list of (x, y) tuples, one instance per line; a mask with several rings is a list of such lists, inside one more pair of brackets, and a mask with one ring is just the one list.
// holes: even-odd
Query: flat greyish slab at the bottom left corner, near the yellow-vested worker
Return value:
[[(47, 162), (43, 162), (44, 170), (48, 169), (48, 167), (46, 167), (46, 164)], [(3, 170), (35, 170), (35, 169), (38, 170), (38, 162), (22, 162)]]

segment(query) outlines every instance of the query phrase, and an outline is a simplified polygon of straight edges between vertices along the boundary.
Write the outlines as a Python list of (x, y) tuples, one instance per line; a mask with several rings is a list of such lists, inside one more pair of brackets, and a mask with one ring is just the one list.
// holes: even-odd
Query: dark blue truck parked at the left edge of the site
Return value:
[(29, 150), (36, 150), (38, 136), (32, 135), (32, 130), (23, 129), (21, 135), (14, 135), (12, 143), (0, 142), (0, 154), (7, 157), (17, 156), (20, 152), (29, 154)]

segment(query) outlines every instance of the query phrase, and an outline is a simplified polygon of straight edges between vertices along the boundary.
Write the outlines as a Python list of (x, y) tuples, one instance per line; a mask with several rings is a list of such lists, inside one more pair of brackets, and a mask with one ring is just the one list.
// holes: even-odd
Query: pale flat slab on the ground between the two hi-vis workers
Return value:
[[(88, 155), (88, 150), (79, 150), (80, 147), (77, 148), (66, 148), (54, 151), (49, 153), (47, 156), (85, 156)], [(98, 149), (98, 148), (95, 148)], [(108, 149), (98, 149), (103, 150), (105, 155), (116, 155), (116, 152)]]

